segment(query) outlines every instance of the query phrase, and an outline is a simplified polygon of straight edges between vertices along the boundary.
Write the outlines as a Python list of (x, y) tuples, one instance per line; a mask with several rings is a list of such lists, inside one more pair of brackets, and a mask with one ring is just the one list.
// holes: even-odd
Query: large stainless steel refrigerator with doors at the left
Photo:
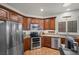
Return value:
[(0, 21), (0, 55), (23, 54), (22, 24)]

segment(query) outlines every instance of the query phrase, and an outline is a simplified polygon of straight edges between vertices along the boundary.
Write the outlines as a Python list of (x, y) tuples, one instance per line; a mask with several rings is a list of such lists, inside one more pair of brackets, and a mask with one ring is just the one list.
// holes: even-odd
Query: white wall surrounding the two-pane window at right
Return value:
[[(56, 33), (58, 33), (58, 22), (78, 20), (77, 23), (79, 23), (79, 10), (70, 11), (70, 12), (64, 12), (64, 13), (57, 14), (57, 15), (54, 15), (54, 16), (56, 16), (56, 24), (55, 24), (56, 25), (56, 30), (55, 30)], [(63, 18), (64, 16), (71, 16), (71, 18)], [(79, 26), (78, 26), (77, 29), (78, 29), (78, 32), (77, 33), (73, 33), (73, 34), (75, 34), (75, 35), (79, 34)], [(66, 34), (66, 33), (64, 33), (64, 34)]]

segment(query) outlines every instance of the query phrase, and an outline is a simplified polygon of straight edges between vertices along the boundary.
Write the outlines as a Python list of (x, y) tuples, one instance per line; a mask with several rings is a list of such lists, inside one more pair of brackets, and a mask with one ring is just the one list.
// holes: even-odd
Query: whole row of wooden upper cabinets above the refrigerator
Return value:
[(23, 16), (0, 5), (0, 20), (9, 20), (22, 23)]

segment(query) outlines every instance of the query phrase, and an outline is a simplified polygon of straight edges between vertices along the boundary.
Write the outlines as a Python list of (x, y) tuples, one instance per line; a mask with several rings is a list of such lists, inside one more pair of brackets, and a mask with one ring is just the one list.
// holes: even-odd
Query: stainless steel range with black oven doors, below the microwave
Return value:
[(38, 32), (31, 32), (31, 49), (41, 48), (41, 37)]

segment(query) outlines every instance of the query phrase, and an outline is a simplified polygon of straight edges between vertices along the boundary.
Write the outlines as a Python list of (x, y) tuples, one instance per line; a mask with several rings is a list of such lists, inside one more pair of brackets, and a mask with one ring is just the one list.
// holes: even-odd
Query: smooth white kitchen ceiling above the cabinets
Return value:
[[(64, 3), (6, 3), (5, 5), (18, 10), (26, 16), (33, 17), (53, 16), (57, 13), (66, 12), (67, 8), (70, 8), (71, 10), (79, 9), (78, 3), (73, 3), (68, 7), (63, 7), (63, 4)], [(44, 9), (43, 12), (40, 11), (41, 8)]]

